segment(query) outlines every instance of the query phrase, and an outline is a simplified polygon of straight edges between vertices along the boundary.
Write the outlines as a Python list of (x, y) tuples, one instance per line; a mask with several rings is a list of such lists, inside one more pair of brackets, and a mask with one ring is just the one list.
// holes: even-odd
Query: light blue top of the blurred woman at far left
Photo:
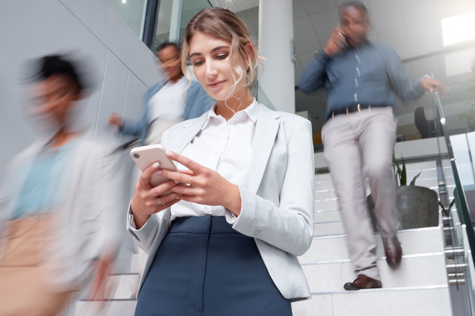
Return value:
[(74, 141), (61, 147), (45, 147), (29, 166), (15, 203), (13, 219), (50, 212), (66, 198), (65, 168)]

